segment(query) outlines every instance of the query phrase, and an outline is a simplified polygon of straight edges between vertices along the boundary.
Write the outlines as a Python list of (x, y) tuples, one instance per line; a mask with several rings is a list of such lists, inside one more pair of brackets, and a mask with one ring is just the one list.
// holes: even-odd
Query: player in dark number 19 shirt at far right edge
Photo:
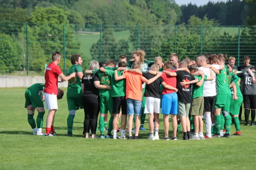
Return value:
[(249, 126), (249, 115), (251, 110), (251, 125), (254, 125), (256, 109), (256, 86), (255, 86), (255, 68), (247, 69), (246, 72), (238, 73), (237, 76), (243, 79), (242, 94), (244, 96), (244, 116), (245, 126)]

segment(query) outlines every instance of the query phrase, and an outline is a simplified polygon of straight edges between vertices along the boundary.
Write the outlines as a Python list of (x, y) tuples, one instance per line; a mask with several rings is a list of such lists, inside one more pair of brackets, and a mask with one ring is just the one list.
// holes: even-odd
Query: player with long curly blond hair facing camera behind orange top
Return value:
[[(137, 49), (137, 51), (133, 51), (132, 52), (132, 58), (134, 59), (134, 61), (140, 63), (140, 71), (141, 72), (148, 72), (148, 70), (151, 67), (151, 65), (154, 64), (154, 61), (145, 60), (145, 55), (146, 55), (145, 51), (143, 51), (140, 48)], [(134, 61), (128, 61), (126, 63), (128, 68), (132, 68), (132, 65), (133, 65)], [(142, 89), (143, 89), (143, 99), (142, 99), (142, 115), (140, 116), (140, 119), (141, 119), (140, 130), (145, 130), (145, 128), (144, 128), (144, 122), (145, 122), (145, 116), (146, 116), (144, 114), (145, 103), (146, 103), (146, 98), (144, 97), (145, 83), (143, 83)], [(135, 122), (135, 117), (134, 117), (134, 122)], [(136, 131), (136, 129), (133, 130), (133, 132), (135, 132), (135, 131)]]

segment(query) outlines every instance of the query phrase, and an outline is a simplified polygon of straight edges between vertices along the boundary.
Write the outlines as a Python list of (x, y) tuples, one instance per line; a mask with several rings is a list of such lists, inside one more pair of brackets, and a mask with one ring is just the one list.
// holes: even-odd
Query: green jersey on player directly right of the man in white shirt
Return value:
[(220, 74), (216, 74), (217, 94), (230, 94), (230, 88), (227, 82), (227, 68), (220, 70)]

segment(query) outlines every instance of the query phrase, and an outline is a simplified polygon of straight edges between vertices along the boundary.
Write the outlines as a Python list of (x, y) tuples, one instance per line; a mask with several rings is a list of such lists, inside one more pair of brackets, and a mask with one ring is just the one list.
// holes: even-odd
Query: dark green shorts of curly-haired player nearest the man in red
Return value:
[(82, 109), (83, 107), (83, 92), (67, 91), (67, 107), (69, 111)]

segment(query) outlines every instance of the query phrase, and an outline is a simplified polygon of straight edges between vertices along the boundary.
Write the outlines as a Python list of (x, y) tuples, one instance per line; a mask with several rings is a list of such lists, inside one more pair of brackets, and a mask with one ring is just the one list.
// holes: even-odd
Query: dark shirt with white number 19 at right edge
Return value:
[[(255, 74), (256, 73), (253, 71), (253, 75)], [(253, 84), (253, 78), (250, 76), (250, 74), (246, 71), (243, 73), (238, 73), (237, 76), (243, 79), (242, 94), (256, 95), (256, 84)]]

